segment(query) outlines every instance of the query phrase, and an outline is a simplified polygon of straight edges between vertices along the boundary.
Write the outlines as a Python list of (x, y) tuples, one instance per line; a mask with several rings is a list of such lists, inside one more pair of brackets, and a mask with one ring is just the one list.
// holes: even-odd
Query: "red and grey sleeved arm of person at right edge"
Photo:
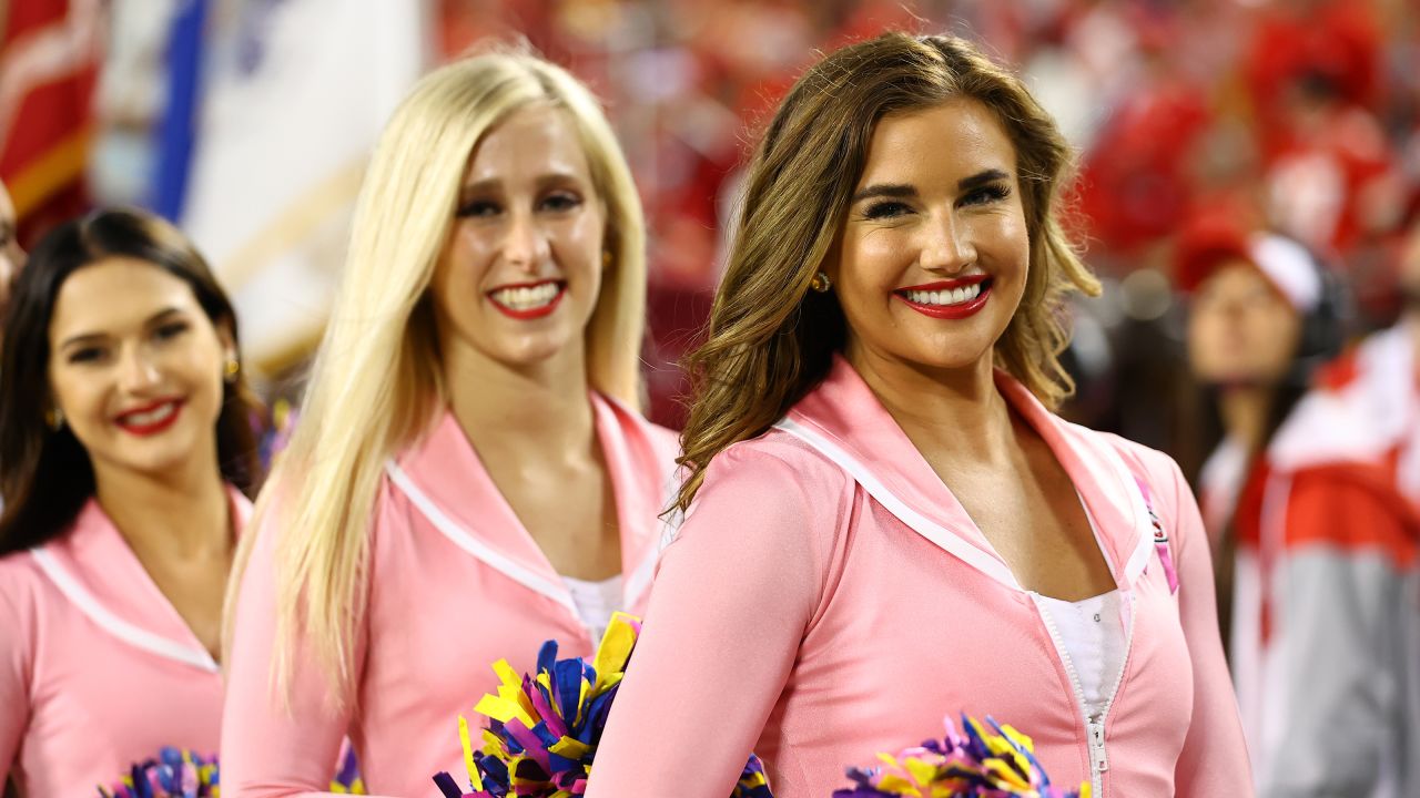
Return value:
[(1260, 760), (1261, 794), (1370, 795), (1383, 751), (1404, 734), (1399, 640), (1413, 623), (1397, 562), (1404, 521), (1375, 490), (1298, 479), (1287, 527), (1274, 574), (1285, 718), (1275, 750)]

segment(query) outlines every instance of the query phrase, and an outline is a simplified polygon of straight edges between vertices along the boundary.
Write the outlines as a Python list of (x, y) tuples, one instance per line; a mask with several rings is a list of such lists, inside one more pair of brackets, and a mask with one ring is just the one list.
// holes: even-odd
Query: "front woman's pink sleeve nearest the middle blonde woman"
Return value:
[(845, 477), (755, 446), (714, 459), (662, 555), (586, 798), (724, 798), (784, 689), (846, 518)]

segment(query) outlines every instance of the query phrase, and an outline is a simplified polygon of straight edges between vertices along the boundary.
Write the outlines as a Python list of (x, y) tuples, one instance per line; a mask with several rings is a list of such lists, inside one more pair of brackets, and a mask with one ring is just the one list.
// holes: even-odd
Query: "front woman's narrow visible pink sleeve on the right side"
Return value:
[[(1166, 469), (1152, 470), (1152, 484), (1173, 500), (1170, 537), (1179, 559), (1179, 615), (1193, 660), (1193, 721), (1174, 768), (1174, 789), (1179, 798), (1244, 798), (1252, 795), (1252, 775), (1218, 635), (1208, 537), (1179, 466), (1167, 460)], [(1167, 476), (1160, 479), (1160, 471)]]

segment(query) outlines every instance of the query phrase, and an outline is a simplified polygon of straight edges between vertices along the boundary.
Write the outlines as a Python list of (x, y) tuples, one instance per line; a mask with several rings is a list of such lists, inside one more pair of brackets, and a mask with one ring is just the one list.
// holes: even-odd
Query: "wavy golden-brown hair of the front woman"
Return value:
[(1024, 84), (971, 43), (888, 33), (815, 64), (780, 105), (754, 153), (706, 342), (690, 355), (694, 402), (682, 433), (686, 510), (723, 449), (763, 434), (828, 373), (846, 322), (832, 294), (811, 294), (888, 114), (973, 98), (1015, 146), (1030, 274), (995, 361), (1045, 405), (1074, 385), (1059, 364), (1068, 291), (1099, 293), (1056, 219), (1072, 153)]

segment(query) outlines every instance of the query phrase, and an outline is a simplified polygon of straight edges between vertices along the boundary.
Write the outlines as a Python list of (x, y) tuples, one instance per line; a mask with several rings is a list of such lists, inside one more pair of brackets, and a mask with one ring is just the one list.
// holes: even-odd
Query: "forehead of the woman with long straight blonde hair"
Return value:
[(540, 104), (514, 111), (483, 136), (464, 182), (515, 183), (544, 175), (588, 179), (589, 169), (571, 114)]

